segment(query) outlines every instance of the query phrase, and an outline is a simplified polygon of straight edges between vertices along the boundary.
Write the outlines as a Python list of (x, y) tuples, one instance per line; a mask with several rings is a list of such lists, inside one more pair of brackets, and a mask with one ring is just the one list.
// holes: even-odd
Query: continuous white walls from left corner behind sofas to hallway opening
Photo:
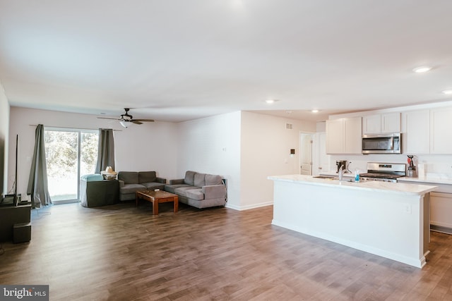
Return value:
[[(14, 161), (19, 135), (18, 192), (26, 195), (35, 144), (35, 125), (113, 128), (116, 171), (155, 170), (168, 180), (185, 171), (220, 174), (227, 179), (227, 207), (250, 209), (273, 203), (268, 176), (299, 173), (299, 133), (316, 132), (316, 123), (233, 112), (183, 123), (143, 123), (124, 129), (116, 121), (59, 111), (11, 107), (8, 161)], [(286, 123), (293, 125), (286, 130)], [(33, 126), (31, 126), (33, 125)], [(290, 157), (290, 149), (296, 154)], [(12, 185), (14, 166), (8, 167)]]

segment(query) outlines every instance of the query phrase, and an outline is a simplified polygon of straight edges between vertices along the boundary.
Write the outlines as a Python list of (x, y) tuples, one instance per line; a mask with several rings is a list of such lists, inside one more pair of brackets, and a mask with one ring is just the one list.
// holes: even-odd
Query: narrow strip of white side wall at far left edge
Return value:
[(0, 82), (0, 195), (8, 190), (9, 103)]

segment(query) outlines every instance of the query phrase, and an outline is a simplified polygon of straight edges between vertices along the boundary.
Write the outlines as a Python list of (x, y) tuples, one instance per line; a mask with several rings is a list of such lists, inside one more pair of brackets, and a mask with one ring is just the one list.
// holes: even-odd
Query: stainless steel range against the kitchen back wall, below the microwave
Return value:
[(397, 182), (397, 178), (406, 176), (406, 166), (400, 163), (377, 163), (367, 164), (367, 173), (361, 173), (362, 180), (379, 180), (384, 182)]

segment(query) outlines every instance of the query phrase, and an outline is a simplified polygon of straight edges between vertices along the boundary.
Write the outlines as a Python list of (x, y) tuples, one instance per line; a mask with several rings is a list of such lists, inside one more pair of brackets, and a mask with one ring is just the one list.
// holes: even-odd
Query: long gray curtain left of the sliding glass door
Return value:
[(37, 125), (35, 131), (35, 152), (31, 162), (27, 194), (31, 195), (33, 208), (52, 204), (47, 188), (47, 166), (45, 163), (44, 125)]

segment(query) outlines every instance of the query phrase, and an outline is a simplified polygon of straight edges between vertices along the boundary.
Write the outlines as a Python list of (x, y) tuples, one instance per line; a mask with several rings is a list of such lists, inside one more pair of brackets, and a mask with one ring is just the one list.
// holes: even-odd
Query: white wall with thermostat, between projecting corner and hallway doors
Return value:
[[(300, 132), (315, 133), (316, 123), (242, 112), (240, 209), (273, 204), (273, 181), (268, 176), (299, 173)], [(295, 149), (295, 156), (290, 156), (290, 149)]]

